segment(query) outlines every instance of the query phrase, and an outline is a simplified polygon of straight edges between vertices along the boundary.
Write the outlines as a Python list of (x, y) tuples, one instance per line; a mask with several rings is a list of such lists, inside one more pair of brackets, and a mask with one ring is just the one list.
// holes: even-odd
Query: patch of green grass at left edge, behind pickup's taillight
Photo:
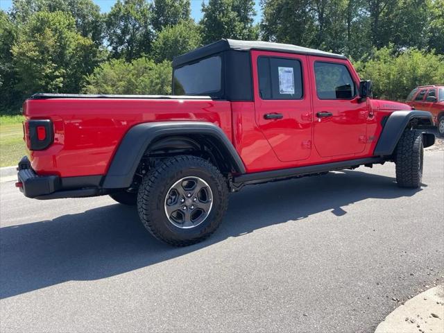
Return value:
[(26, 155), (22, 116), (0, 116), (0, 167), (17, 165)]

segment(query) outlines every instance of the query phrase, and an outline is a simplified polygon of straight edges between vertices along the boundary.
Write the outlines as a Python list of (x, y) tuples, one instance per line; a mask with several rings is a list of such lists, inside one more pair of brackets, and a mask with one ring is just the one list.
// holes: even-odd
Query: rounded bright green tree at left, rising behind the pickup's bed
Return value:
[(99, 62), (99, 50), (76, 31), (66, 12), (37, 12), (12, 46), (16, 87), (22, 96), (35, 92), (78, 92), (83, 76)]

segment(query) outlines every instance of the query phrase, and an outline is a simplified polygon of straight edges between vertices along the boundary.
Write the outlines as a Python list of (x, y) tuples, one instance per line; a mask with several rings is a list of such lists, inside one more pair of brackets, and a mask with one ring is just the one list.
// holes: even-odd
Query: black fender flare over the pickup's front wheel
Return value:
[[(398, 144), (398, 141), (402, 133), (404, 132), (409, 122), (413, 119), (422, 119), (422, 122), (424, 122), (426, 125), (433, 126), (432, 114), (428, 111), (420, 111), (420, 110), (395, 111), (392, 114), (390, 114), (390, 116), (388, 116), (384, 124), (384, 128), (382, 128), (382, 132), (379, 135), (379, 139), (377, 141), (373, 155), (375, 156), (392, 155), (393, 151), (395, 151), (396, 145)], [(429, 133), (425, 134), (429, 135)], [(430, 140), (429, 137), (427, 137), (427, 142), (431, 141), (432, 140)], [(432, 144), (433, 143), (434, 143), (434, 137)]]

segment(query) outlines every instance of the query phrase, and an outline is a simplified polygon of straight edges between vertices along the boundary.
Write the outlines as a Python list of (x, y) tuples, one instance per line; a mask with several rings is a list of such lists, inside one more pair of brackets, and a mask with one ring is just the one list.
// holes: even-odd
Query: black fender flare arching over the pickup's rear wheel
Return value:
[(215, 139), (230, 159), (237, 173), (245, 173), (245, 166), (230, 139), (214, 123), (206, 121), (156, 121), (139, 123), (128, 130), (103, 180), (103, 188), (119, 189), (130, 187), (135, 171), (150, 144), (171, 135), (207, 135)]

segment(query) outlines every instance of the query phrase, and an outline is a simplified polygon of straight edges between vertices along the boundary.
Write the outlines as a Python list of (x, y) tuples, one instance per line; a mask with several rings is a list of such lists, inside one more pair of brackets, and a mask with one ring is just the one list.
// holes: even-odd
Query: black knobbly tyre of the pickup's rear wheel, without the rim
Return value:
[[(171, 223), (165, 213), (165, 198), (171, 186), (186, 177), (198, 177), (212, 191), (212, 209), (196, 227), (184, 229)], [(200, 157), (178, 155), (157, 162), (142, 180), (137, 210), (146, 230), (155, 238), (173, 246), (189, 246), (203, 241), (221, 224), (228, 206), (228, 187), (219, 169)]]

